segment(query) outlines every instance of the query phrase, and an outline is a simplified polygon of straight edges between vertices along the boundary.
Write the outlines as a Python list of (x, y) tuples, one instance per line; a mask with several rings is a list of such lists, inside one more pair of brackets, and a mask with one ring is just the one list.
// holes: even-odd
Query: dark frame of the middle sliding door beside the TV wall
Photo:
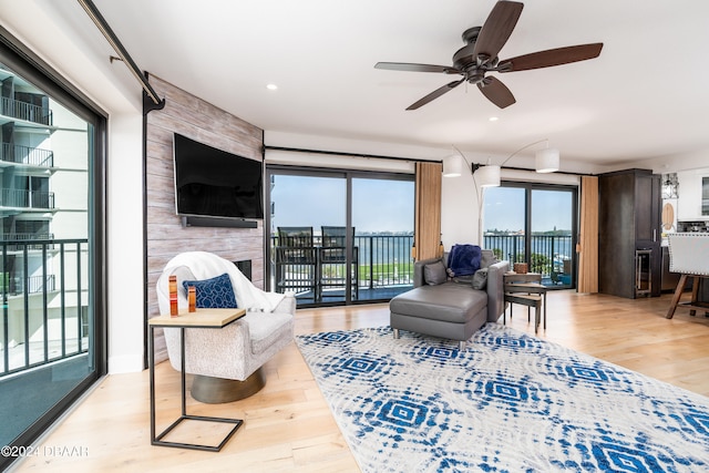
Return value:
[[(351, 232), (352, 228), (352, 181), (356, 178), (367, 178), (367, 179), (390, 179), (390, 181), (411, 181), (414, 182), (413, 174), (404, 174), (404, 173), (393, 173), (393, 172), (377, 172), (377, 171), (362, 171), (362, 169), (348, 169), (348, 168), (326, 168), (326, 167), (311, 167), (311, 166), (294, 166), (294, 165), (284, 165), (284, 164), (266, 164), (266, 182), (269, 184), (268, 186), (264, 186), (266, 189), (265, 193), (265, 207), (267, 208), (267, 215), (264, 217), (264, 285), (266, 290), (273, 290), (271, 288), (271, 218), (270, 215), (273, 213), (273, 202), (270, 199), (270, 183), (271, 176), (274, 175), (290, 175), (290, 176), (302, 176), (302, 177), (330, 177), (330, 178), (343, 178), (346, 181), (346, 208), (345, 208), (345, 226), (347, 227), (346, 234), (346, 247), (347, 247), (347, 259), (346, 265), (349, 268), (352, 264), (352, 247), (354, 245), (353, 235)], [(413, 224), (413, 215), (411, 215), (411, 222)], [(359, 268), (358, 268), (359, 270)], [(383, 302), (388, 299), (366, 299), (358, 300), (352, 299), (352, 281), (351, 281), (351, 271), (346, 271), (347, 280), (345, 285), (345, 300), (342, 301), (331, 301), (331, 302), (314, 302), (314, 304), (304, 304), (298, 307), (328, 307), (328, 306), (349, 306), (349, 305), (358, 305), (358, 304), (372, 304), (372, 302)]]

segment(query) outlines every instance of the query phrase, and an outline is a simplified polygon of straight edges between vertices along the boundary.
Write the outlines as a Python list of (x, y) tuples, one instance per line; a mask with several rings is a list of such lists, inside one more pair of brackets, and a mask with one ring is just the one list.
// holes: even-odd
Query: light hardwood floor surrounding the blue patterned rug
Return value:
[[(574, 291), (548, 294), (547, 329), (538, 337), (709, 395), (709, 318), (678, 310), (665, 318), (670, 295), (621, 299)], [(502, 321), (502, 319), (501, 319)], [(298, 310), (296, 333), (379, 327), (387, 305)], [(526, 308), (515, 306), (507, 325), (534, 333)], [(245, 419), (219, 453), (150, 444), (148, 372), (110, 376), (39, 442), (40, 454), (17, 471), (52, 472), (357, 472), (357, 464), (295, 343), (266, 364), (266, 387), (228, 404), (189, 401), (189, 412)], [(178, 374), (156, 370), (163, 425), (178, 412)], [(158, 419), (158, 422), (160, 422)], [(209, 424), (210, 425), (210, 424)], [(185, 425), (183, 440), (222, 432)], [(79, 448), (79, 455), (60, 449)]]

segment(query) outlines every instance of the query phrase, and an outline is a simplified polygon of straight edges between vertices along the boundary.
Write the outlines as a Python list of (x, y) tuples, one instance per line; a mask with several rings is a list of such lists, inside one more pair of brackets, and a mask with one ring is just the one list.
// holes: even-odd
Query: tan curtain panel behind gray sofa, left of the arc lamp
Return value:
[(418, 260), (441, 256), (442, 173), (441, 163), (417, 163), (413, 257)]

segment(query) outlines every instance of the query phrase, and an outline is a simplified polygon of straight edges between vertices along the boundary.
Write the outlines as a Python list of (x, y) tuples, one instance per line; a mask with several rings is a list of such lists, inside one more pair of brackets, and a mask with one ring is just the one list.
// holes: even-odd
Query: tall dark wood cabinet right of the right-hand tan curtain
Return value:
[(659, 296), (660, 175), (626, 169), (598, 176), (598, 290), (636, 298)]

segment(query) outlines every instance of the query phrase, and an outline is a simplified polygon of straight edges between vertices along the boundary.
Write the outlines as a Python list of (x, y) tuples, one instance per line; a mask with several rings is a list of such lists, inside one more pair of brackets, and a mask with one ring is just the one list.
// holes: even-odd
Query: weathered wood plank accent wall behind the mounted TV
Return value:
[[(258, 228), (183, 227), (175, 213), (173, 134), (253, 160), (263, 160), (264, 133), (189, 93), (151, 75), (165, 107), (146, 116), (146, 297), (147, 318), (160, 313), (155, 284), (167, 261), (183, 251), (215, 253), (230, 261), (250, 259), (254, 284), (264, 287), (264, 225)], [(163, 340), (156, 340), (156, 357)], [(158, 358), (163, 359), (162, 356)]]

